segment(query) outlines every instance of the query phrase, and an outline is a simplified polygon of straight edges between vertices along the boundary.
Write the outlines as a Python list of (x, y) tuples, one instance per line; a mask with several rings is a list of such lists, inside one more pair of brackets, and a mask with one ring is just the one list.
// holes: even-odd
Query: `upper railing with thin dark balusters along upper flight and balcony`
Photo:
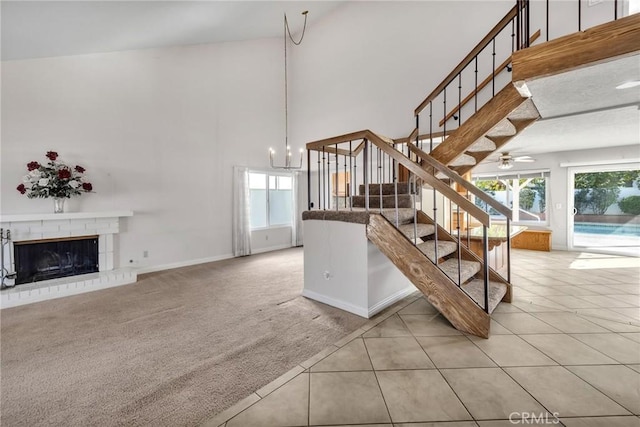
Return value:
[[(415, 142), (434, 144), (464, 123), (497, 92), (511, 83), (512, 54), (534, 43), (549, 41), (628, 13), (627, 2), (604, 0), (533, 1), (516, 5), (414, 110)], [(537, 28), (533, 31), (532, 28)]]

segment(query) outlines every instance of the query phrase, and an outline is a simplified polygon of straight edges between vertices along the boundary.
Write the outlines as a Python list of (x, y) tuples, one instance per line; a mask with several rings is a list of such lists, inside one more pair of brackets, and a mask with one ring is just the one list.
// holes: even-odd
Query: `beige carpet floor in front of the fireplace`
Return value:
[(300, 296), (301, 249), (0, 312), (0, 424), (193, 426), (357, 329)]

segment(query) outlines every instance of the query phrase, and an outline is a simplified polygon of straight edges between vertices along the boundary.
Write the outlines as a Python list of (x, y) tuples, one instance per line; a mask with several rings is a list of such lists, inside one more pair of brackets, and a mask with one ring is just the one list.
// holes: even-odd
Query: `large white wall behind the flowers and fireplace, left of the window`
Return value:
[(94, 184), (70, 210), (135, 212), (121, 266), (230, 256), (232, 167), (268, 167), (284, 140), (281, 49), (265, 39), (3, 62), (0, 211), (51, 212), (15, 187), (55, 150)]

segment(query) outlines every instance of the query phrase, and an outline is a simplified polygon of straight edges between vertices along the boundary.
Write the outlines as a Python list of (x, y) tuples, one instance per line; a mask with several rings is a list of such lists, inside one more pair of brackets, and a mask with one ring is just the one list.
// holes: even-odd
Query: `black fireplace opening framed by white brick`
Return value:
[(14, 242), (16, 285), (98, 271), (98, 236)]

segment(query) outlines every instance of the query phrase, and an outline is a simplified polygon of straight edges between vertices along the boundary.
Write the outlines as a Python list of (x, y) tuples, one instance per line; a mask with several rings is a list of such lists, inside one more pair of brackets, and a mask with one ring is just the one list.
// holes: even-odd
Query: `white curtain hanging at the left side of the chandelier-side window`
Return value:
[(249, 169), (233, 168), (233, 255), (251, 255), (251, 195)]

